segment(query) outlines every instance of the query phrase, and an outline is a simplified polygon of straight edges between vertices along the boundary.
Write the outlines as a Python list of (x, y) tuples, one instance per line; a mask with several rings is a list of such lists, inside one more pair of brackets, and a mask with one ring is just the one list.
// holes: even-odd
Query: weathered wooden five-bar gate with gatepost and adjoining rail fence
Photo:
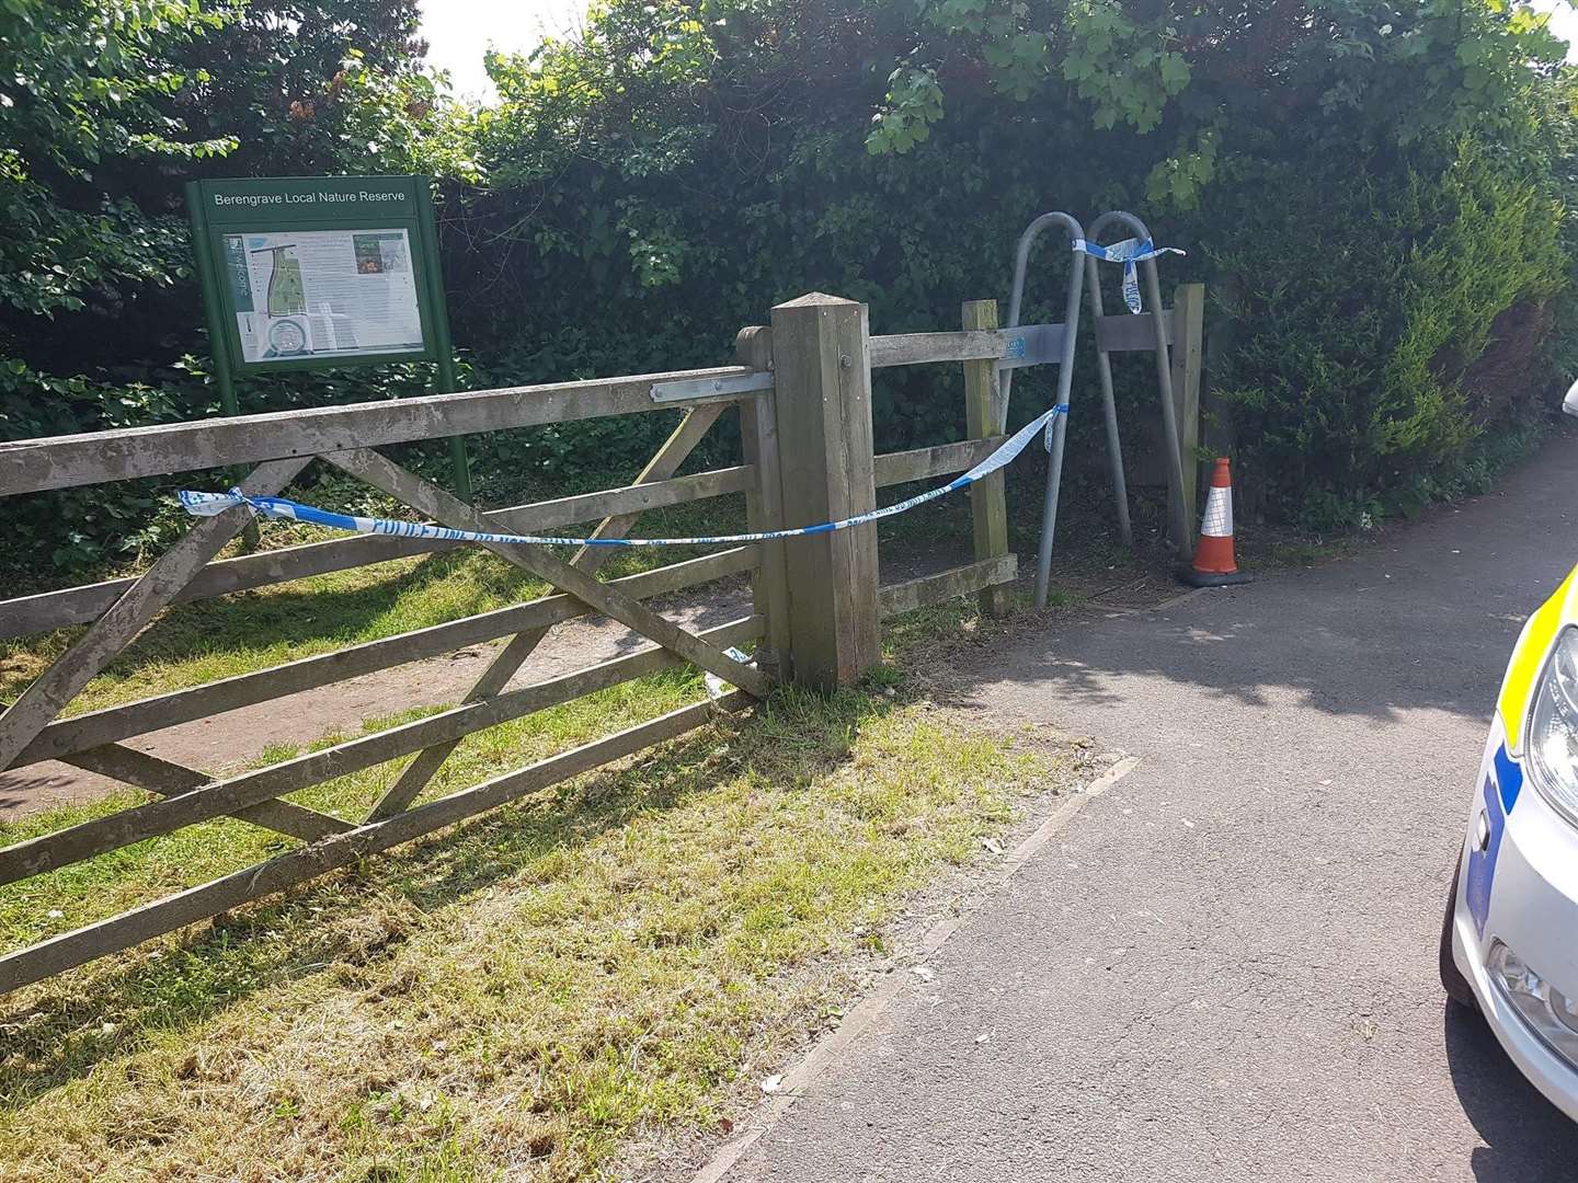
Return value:
[[(0, 497), (235, 467), (249, 468), (240, 480), (245, 492), (268, 495), (284, 491), (309, 464), (319, 462), (357, 476), (423, 519), (456, 528), (535, 533), (598, 521), (593, 536), (619, 538), (633, 530), (644, 509), (743, 492), (750, 528), (765, 530), (873, 509), (879, 487), (963, 472), (1004, 438), (997, 366), (1008, 350), (1008, 334), (996, 330), (993, 301), (966, 304), (958, 333), (871, 338), (865, 306), (810, 295), (775, 308), (770, 328), (743, 330), (737, 349), (739, 364), (716, 369), (0, 443)], [(964, 364), (969, 438), (874, 454), (871, 369), (940, 361)], [(486, 513), (377, 451), (413, 440), (675, 407), (683, 409), (683, 420), (630, 484)], [(745, 462), (677, 476), (686, 456), (729, 407), (739, 407)], [(974, 562), (892, 587), (877, 584), (874, 525), (735, 546), (611, 580), (596, 577), (609, 549), (582, 547), (567, 562), (543, 547), (489, 546), (505, 562), (548, 582), (554, 593), (71, 716), (63, 716), (71, 700), (167, 606), (456, 544), (358, 535), (219, 558), (252, 521), (249, 509), (232, 508), (196, 519), (137, 577), (0, 601), (0, 637), (88, 625), (0, 715), (0, 770), (62, 760), (148, 793), (147, 801), (118, 812), (0, 849), (0, 885), (216, 817), (237, 817), (298, 842), (270, 861), (0, 956), (0, 992), (671, 740), (716, 710), (735, 710), (765, 696), (775, 681), (847, 685), (877, 661), (882, 615), (969, 593), (982, 595), (985, 610), (1002, 614), (1008, 604), (1004, 585), (1015, 577), (1002, 476), (974, 486), (970, 497)], [(740, 573), (753, 576), (754, 607), (739, 620), (688, 631), (645, 604), (653, 596)], [(507, 688), (554, 625), (589, 614), (611, 617), (652, 644), (546, 681)], [(180, 722), (505, 637), (508, 642), (458, 705), (267, 767), (216, 774), (125, 743)], [(756, 667), (743, 667), (724, 653), (731, 645), (751, 642), (757, 642)], [(466, 737), (686, 662), (739, 689), (415, 804)], [(402, 757), (413, 759), (360, 822), (286, 800), (301, 789)]]

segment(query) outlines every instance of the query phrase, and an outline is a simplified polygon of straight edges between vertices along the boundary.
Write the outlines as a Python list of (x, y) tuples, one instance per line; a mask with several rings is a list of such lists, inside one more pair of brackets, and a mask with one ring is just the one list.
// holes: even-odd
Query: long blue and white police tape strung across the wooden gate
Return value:
[(353, 514), (336, 514), (328, 509), (319, 509), (311, 505), (301, 505), (300, 502), (292, 502), (286, 497), (248, 497), (240, 489), (230, 489), (224, 494), (210, 492), (193, 492), (183, 489), (180, 492), (181, 505), (186, 506), (186, 513), (196, 514), (197, 517), (213, 517), (215, 514), (232, 509), (238, 505), (248, 505), (254, 513), (264, 517), (287, 519), (295, 522), (309, 522), (312, 525), (327, 525), (335, 530), (350, 530), (363, 535), (394, 535), (396, 538), (434, 538), (450, 543), (507, 543), (521, 546), (723, 546), (732, 543), (770, 543), (778, 538), (800, 538), (805, 535), (825, 535), (833, 530), (849, 530), (855, 525), (865, 525), (866, 522), (876, 522), (882, 517), (892, 517), (893, 514), (901, 514), (906, 509), (914, 509), (917, 505), (925, 505), (926, 502), (934, 502), (950, 492), (964, 489), (966, 486), (975, 484), (975, 481), (983, 476), (989, 476), (999, 468), (1005, 467), (1013, 461), (1026, 445), (1035, 437), (1035, 432), (1046, 429), (1046, 446), (1051, 448), (1053, 423), (1059, 415), (1068, 413), (1068, 404), (1060, 402), (1045, 415), (1024, 424), (1002, 442), (991, 456), (977, 464), (963, 476), (956, 476), (939, 489), (923, 492), (917, 497), (909, 497), (895, 505), (888, 505), (882, 509), (874, 509), (868, 514), (858, 514), (855, 517), (846, 517), (841, 522), (822, 522), (821, 525), (802, 525), (794, 530), (764, 530), (759, 533), (748, 535), (718, 535), (712, 538), (541, 538), (538, 535), (502, 535), (502, 533), (486, 533), (481, 530), (451, 530), (447, 525), (424, 525), (421, 522), (399, 522), (388, 517), (358, 517)]

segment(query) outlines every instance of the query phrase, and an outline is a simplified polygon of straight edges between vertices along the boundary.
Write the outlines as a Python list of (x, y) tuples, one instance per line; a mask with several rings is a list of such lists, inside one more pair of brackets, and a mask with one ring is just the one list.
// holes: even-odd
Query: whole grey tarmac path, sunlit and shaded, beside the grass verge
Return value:
[(1578, 1180), (1578, 1126), (1434, 967), (1501, 672), (1575, 527), (1567, 438), (1360, 558), (963, 670), (1141, 763), (727, 1178)]

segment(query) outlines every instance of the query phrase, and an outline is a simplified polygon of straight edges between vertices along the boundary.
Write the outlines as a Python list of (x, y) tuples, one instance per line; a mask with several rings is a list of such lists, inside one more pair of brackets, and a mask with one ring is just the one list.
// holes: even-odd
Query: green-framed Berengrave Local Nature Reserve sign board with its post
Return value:
[[(186, 203), (226, 415), (237, 374), (432, 361), (454, 391), (429, 178), (207, 180)], [(466, 442), (450, 446), (470, 500)]]

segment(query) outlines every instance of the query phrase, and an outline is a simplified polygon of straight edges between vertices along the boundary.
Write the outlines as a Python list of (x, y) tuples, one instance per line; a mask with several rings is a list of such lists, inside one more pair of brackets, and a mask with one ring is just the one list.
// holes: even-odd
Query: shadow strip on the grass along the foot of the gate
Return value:
[(134, 948), (0, 1006), (0, 1106), (25, 1107), (158, 1035), (180, 1033), (265, 991), (333, 973), (372, 987), (374, 967), (434, 912), (518, 880), (549, 882), (576, 852), (636, 817), (664, 814), (734, 778), (802, 786), (849, 759), (863, 722), (898, 699), (784, 689), (742, 718), (502, 806), (393, 853)]

